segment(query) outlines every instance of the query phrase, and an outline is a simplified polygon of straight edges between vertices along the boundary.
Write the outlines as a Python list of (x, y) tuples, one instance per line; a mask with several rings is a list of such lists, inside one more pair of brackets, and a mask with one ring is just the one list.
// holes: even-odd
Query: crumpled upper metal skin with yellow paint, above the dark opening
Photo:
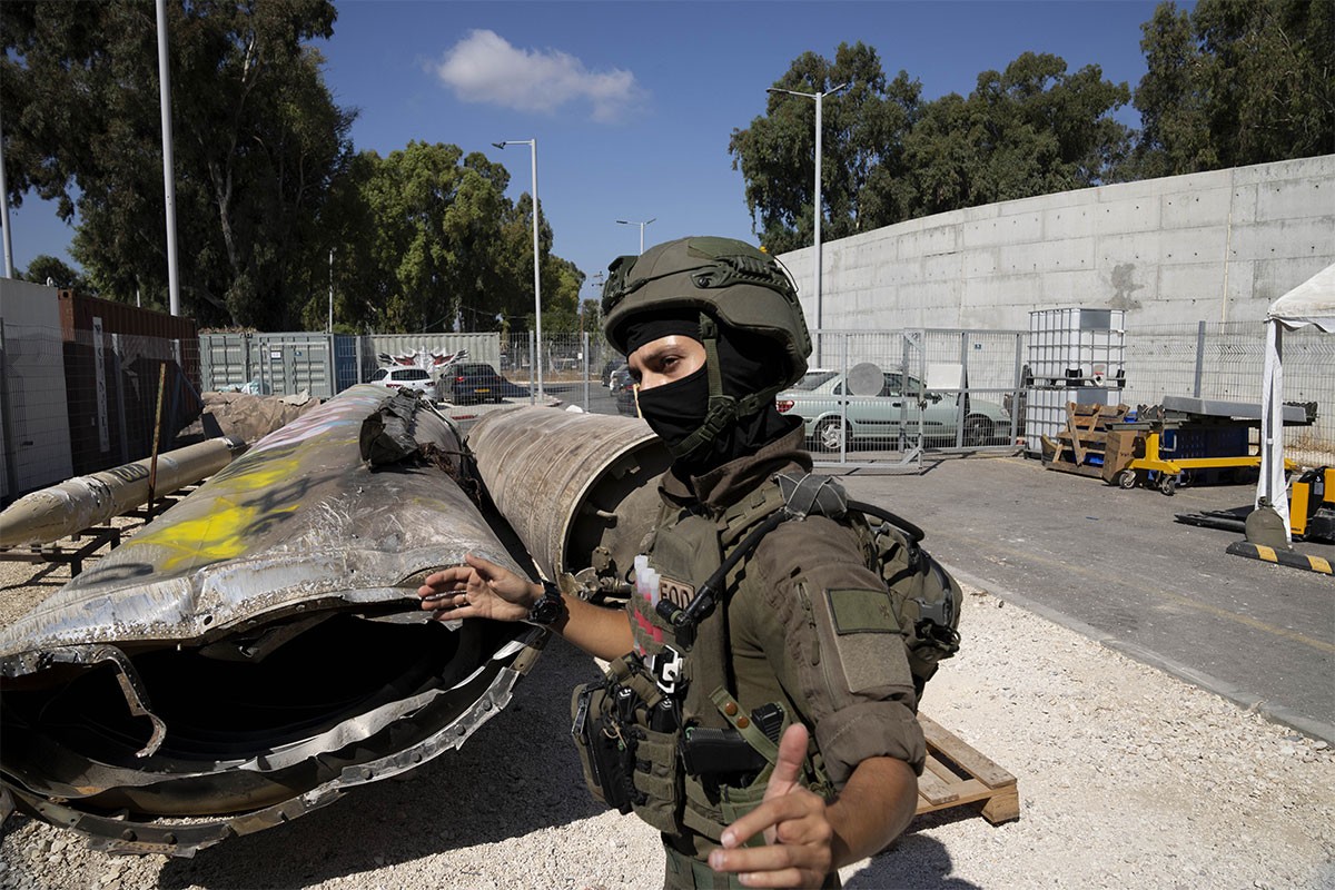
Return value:
[[(443, 470), (362, 462), (363, 422), (388, 398), (352, 387), (258, 442), (0, 630), (0, 674), (28, 673), (23, 655), (43, 648), (218, 639), (298, 606), (407, 607), (417, 579), (470, 550), (525, 571)], [(423, 447), (462, 460), (449, 420), (425, 403), (415, 416)]]

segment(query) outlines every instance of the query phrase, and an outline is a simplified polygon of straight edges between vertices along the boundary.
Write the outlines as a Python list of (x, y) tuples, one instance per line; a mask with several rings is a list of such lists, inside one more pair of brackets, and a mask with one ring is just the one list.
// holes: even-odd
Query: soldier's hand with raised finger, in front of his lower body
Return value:
[[(749, 887), (820, 887), (834, 861), (825, 801), (802, 786), (806, 727), (789, 726), (758, 807), (724, 829), (709, 867), (745, 875)], [(764, 833), (765, 846), (742, 846)]]

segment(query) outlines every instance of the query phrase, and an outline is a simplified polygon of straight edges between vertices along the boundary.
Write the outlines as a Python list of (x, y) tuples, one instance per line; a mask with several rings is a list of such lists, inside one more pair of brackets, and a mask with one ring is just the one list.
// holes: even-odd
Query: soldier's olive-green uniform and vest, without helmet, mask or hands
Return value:
[[(689, 487), (663, 476), (663, 507), (647, 548), (661, 596), (685, 606), (748, 531), (750, 507), (774, 487), (773, 476), (810, 471), (801, 442), (796, 430)], [(817, 793), (837, 790), (872, 757), (897, 758), (921, 773), (925, 749), (913, 681), (897, 624), (886, 616), (885, 586), (868, 562), (866, 544), (852, 527), (825, 516), (784, 522), (729, 575), (720, 607), (689, 648), (653, 603), (633, 596), (637, 652), (658, 686), (677, 697), (680, 725), (750, 729), (764, 749), (746, 717), (778, 703), (785, 726), (800, 719), (812, 731), (805, 766)], [(721, 830), (760, 803), (772, 767), (744, 777), (744, 785), (694, 777), (676, 757), (674, 734), (638, 737), (646, 751), (663, 753), (662, 763), (637, 774), (645, 799), (634, 809), (663, 833), (666, 886), (730, 886), (726, 875), (709, 871), (705, 858)], [(654, 759), (637, 757), (641, 769)], [(826, 883), (837, 886), (837, 875)]]

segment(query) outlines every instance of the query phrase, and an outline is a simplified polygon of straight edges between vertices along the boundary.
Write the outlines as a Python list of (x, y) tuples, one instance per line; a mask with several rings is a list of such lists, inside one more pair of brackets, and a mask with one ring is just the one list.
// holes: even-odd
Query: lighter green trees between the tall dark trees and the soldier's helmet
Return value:
[[(322, 217), (335, 246), (335, 316), (360, 330), (491, 331), (533, 326), (533, 199), (511, 201), (510, 173), (458, 145), (413, 141), (380, 157), (358, 153)], [(543, 324), (573, 314), (583, 274), (551, 255), (539, 219)], [(571, 290), (573, 288), (573, 290)], [(327, 292), (307, 327), (323, 327)]]

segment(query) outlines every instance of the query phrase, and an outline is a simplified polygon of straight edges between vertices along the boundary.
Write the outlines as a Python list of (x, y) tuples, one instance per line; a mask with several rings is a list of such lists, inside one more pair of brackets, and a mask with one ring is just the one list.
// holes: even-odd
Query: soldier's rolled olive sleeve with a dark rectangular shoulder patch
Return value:
[(816, 727), (834, 785), (872, 757), (921, 774), (925, 743), (904, 639), (853, 532), (824, 516), (784, 523), (761, 542), (754, 566), (756, 604), (765, 610), (756, 615), (757, 643)]

